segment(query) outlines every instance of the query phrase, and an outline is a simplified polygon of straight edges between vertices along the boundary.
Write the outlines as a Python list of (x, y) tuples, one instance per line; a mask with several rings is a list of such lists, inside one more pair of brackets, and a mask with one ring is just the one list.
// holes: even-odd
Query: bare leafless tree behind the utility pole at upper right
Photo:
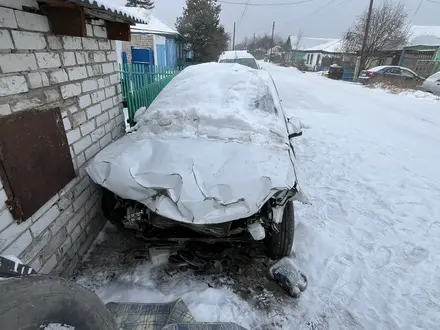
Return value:
[[(357, 53), (362, 48), (368, 12), (358, 17), (356, 23), (343, 37), (343, 50), (346, 53)], [(370, 32), (365, 47), (364, 67), (368, 67), (374, 59), (381, 57), (381, 52), (398, 50), (408, 41), (409, 25), (406, 23), (408, 14), (402, 3), (394, 4), (386, 0), (373, 9)]]

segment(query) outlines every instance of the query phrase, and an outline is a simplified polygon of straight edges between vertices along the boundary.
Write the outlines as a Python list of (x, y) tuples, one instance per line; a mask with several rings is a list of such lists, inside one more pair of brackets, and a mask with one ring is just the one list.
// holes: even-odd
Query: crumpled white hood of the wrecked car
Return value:
[(293, 153), (208, 138), (128, 134), (87, 166), (92, 180), (116, 195), (185, 223), (215, 224), (249, 217), (279, 191), (300, 192)]

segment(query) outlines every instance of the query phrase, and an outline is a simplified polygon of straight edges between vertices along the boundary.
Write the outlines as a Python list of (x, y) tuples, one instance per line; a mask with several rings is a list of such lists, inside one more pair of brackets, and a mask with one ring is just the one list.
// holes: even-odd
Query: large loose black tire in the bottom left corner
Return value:
[(48, 324), (75, 330), (117, 330), (110, 311), (91, 291), (63, 278), (43, 275), (0, 281), (2, 329), (35, 330)]

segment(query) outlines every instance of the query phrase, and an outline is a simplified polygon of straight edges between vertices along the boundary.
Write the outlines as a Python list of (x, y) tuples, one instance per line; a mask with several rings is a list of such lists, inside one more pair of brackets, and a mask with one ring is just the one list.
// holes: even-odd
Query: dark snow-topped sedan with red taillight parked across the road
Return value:
[(421, 83), (424, 79), (408, 68), (393, 65), (376, 66), (368, 70), (363, 70), (358, 79), (358, 81), (364, 85), (383, 80), (391, 82), (406, 80)]

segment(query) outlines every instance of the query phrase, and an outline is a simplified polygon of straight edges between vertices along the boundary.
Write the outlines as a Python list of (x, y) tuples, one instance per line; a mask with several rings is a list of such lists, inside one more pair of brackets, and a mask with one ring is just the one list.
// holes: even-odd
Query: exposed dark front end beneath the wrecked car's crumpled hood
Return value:
[[(266, 232), (279, 229), (285, 205), (296, 199), (296, 188), (276, 192), (258, 212), (250, 217), (214, 224), (194, 224), (175, 221), (151, 211), (144, 204), (118, 197), (103, 188), (103, 209), (113, 223), (140, 233), (143, 238), (159, 238), (175, 241), (248, 241), (263, 240)], [(116, 215), (116, 217), (115, 217)], [(174, 233), (175, 235), (171, 235)]]

